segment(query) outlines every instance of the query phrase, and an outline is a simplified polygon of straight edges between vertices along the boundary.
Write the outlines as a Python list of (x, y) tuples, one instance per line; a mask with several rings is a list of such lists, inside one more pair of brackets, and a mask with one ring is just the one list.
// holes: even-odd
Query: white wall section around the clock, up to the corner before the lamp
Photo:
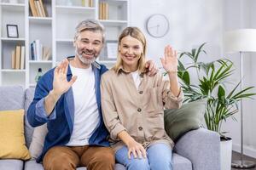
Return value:
[[(219, 56), (222, 34), (221, 0), (131, 0), (131, 26), (138, 26), (148, 40), (148, 58), (160, 64), (167, 44), (178, 51), (189, 50), (202, 42), (210, 42), (207, 51)], [(151, 14), (165, 14), (170, 31), (165, 37), (150, 37), (145, 23)]]

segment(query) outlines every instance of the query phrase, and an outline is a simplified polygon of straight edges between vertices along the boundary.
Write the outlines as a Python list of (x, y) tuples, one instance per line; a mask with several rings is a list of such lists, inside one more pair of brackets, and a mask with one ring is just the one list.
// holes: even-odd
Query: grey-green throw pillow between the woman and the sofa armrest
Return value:
[(206, 111), (205, 99), (183, 104), (179, 109), (165, 111), (166, 133), (177, 142), (184, 133), (201, 127), (201, 120)]

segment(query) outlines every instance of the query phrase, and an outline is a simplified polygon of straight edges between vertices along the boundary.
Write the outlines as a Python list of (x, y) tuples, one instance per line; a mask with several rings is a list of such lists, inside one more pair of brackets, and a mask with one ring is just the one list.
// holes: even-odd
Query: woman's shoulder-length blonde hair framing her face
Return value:
[[(124, 37), (127, 37), (127, 36), (134, 37), (138, 41), (143, 43), (143, 53), (141, 54), (141, 57), (138, 60), (138, 68), (137, 68), (137, 70), (139, 72), (143, 72), (144, 71), (144, 65), (145, 65), (145, 62), (146, 62), (145, 61), (146, 60), (145, 59), (146, 58), (145, 57), (146, 56), (145, 53), (146, 53), (146, 50), (147, 50), (146, 38), (143, 35), (143, 32), (140, 31), (140, 29), (138, 29), (137, 27), (126, 27), (125, 30), (123, 30), (122, 33), (119, 36), (119, 47), (120, 47), (122, 39)], [(123, 60), (119, 56), (119, 52), (118, 52), (118, 59), (117, 59), (116, 64), (113, 66), (113, 70), (118, 72), (122, 64), (123, 64)]]

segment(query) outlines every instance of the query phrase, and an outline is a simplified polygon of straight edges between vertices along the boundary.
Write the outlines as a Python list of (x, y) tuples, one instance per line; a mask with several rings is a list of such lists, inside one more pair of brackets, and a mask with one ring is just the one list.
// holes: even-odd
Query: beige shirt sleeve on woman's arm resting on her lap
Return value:
[(106, 78), (105, 75), (102, 76), (101, 94), (103, 121), (110, 133), (110, 138), (117, 140), (118, 133), (126, 129), (119, 120), (118, 112), (113, 101), (110, 80)]

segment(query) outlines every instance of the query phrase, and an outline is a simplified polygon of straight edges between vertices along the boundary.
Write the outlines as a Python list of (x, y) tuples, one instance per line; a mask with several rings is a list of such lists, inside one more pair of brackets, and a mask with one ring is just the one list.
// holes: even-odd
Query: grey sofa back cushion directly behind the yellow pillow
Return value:
[(24, 109), (24, 91), (21, 86), (0, 87), (0, 111)]

